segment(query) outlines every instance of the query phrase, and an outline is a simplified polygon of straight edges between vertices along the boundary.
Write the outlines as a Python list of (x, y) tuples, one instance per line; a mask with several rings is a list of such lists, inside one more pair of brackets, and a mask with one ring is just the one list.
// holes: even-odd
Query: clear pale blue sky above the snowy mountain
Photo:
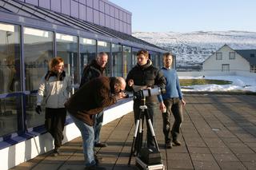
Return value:
[(132, 32), (256, 31), (255, 0), (109, 0), (132, 13)]

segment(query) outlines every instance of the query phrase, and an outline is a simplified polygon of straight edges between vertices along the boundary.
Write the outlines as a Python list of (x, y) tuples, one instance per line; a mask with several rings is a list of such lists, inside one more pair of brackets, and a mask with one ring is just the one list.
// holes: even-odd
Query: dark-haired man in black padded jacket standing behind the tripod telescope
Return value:
[[(152, 62), (149, 59), (149, 53), (146, 50), (140, 50), (137, 53), (137, 65), (134, 66), (133, 69), (130, 70), (126, 77), (126, 83), (127, 87), (126, 89), (128, 91), (132, 90), (133, 85), (139, 85), (139, 86), (146, 86), (146, 88), (151, 88), (153, 85), (158, 85), (162, 89), (165, 88), (166, 80), (165, 77), (163, 77), (162, 72), (155, 68), (152, 65)], [(157, 97), (151, 96), (146, 97), (146, 106), (147, 111), (150, 115), (150, 120), (154, 122), (154, 110), (156, 109), (157, 105)], [(162, 101), (161, 95), (158, 95), (158, 101), (160, 102), (160, 109), (162, 107), (165, 107)], [(139, 119), (139, 113), (140, 109), (139, 106), (141, 105), (141, 102), (139, 99), (134, 100), (134, 119), (135, 121)], [(150, 127), (148, 123), (146, 122), (147, 126), (147, 147), (148, 148), (154, 148), (154, 138), (152, 137), (152, 134), (150, 132)], [(138, 140), (136, 140), (135, 145), (138, 145)]]

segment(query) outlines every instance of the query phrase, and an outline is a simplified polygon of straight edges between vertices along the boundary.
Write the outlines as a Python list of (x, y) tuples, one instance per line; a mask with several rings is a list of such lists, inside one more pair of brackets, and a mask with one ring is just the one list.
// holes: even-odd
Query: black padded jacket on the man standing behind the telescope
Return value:
[[(162, 89), (166, 88), (166, 79), (163, 76), (160, 69), (154, 67), (150, 60), (147, 61), (146, 65), (135, 65), (133, 69), (130, 70), (126, 77), (126, 85), (127, 82), (133, 79), (134, 85), (147, 86), (152, 87), (153, 85), (157, 85)], [(132, 91), (128, 85), (126, 86), (127, 91)], [(146, 97), (146, 102), (155, 102), (156, 97)]]

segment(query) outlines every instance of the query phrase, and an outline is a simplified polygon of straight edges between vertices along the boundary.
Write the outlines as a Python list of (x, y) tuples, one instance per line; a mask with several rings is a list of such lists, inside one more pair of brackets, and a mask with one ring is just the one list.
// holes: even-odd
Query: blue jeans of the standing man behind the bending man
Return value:
[(94, 144), (100, 143), (100, 132), (102, 128), (103, 111), (94, 115)]

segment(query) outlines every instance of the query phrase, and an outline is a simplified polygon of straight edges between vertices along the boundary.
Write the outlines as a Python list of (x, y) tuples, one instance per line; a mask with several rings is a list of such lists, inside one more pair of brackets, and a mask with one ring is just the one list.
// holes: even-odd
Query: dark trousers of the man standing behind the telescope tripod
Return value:
[[(138, 120), (140, 117), (139, 117), (139, 114), (141, 113), (141, 109), (139, 109), (139, 106), (140, 106), (140, 102), (135, 102), (134, 101), (134, 121), (136, 123), (136, 120)], [(150, 116), (150, 121), (153, 125), (154, 123), (154, 109), (156, 109), (156, 103), (146, 103), (146, 106), (147, 106), (147, 112), (149, 113), (149, 116)], [(143, 116), (142, 119), (143, 121), (146, 121), (145, 119), (146, 117)], [(142, 121), (142, 122), (143, 122)], [(141, 123), (142, 123), (141, 122)], [(135, 141), (135, 148), (136, 146), (138, 146), (138, 137)], [(140, 141), (142, 145), (142, 141)], [(146, 121), (146, 142), (147, 142), (147, 148), (155, 148), (154, 146), (154, 138), (150, 132), (150, 125), (148, 124), (148, 122)]]

